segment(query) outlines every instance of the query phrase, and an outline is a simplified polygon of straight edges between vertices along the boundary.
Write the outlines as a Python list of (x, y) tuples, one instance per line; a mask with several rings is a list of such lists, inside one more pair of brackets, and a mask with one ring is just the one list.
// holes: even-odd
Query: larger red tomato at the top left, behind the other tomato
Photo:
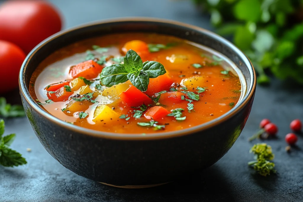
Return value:
[(15, 43), (26, 54), (61, 25), (57, 10), (46, 1), (7, 1), (0, 6), (0, 40)]

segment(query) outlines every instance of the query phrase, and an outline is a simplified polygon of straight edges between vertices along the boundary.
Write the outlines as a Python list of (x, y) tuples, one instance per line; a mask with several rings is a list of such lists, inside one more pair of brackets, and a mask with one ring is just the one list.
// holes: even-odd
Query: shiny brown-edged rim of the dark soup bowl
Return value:
[[(60, 37), (61, 35), (65, 35), (71, 31), (74, 31), (79, 28), (85, 28), (93, 25), (98, 25), (98, 24), (107, 24), (107, 23), (113, 23), (113, 22), (155, 22), (155, 23), (166, 23), (166, 24), (174, 24), (180, 27), (184, 28), (190, 28), (194, 29), (198, 32), (203, 32), (205, 35), (208, 35), (215, 40), (218, 40), (225, 44), (226, 46), (230, 47), (234, 52), (236, 52), (240, 58), (243, 60), (245, 65), (247, 65), (249, 74), (251, 77), (250, 81), (250, 87), (246, 89), (246, 95), (243, 97), (243, 99), (238, 102), (234, 108), (232, 108), (230, 111), (226, 112), (225, 114), (219, 116), (218, 118), (215, 118), (211, 121), (208, 121), (203, 124), (199, 124), (194, 127), (189, 127), (186, 129), (181, 129), (177, 131), (170, 131), (170, 132), (157, 132), (157, 133), (147, 133), (146, 135), (142, 135), (140, 133), (132, 133), (132, 134), (127, 134), (127, 133), (112, 133), (112, 132), (104, 132), (104, 131), (96, 131), (80, 126), (75, 126), (73, 124), (69, 124), (52, 114), (49, 114), (47, 111), (43, 110), (35, 101), (34, 99), (30, 96), (28, 87), (25, 86), (24, 78), (23, 78), (23, 73), (25, 73), (25, 70), (28, 65), (28, 61), (32, 59), (32, 57), (35, 55), (39, 49), (44, 46), (45, 44), (49, 43), (53, 39)], [(107, 139), (119, 139), (119, 140), (154, 140), (154, 139), (162, 139), (162, 138), (172, 138), (172, 137), (179, 137), (183, 135), (189, 135), (193, 134), (198, 131), (203, 131), (206, 130), (210, 127), (214, 127), (221, 122), (231, 118), (234, 116), (238, 111), (240, 111), (253, 97), (253, 94), (255, 92), (256, 88), (256, 76), (255, 76), (255, 69), (251, 63), (251, 61), (248, 59), (248, 57), (239, 49), (237, 48), (234, 44), (226, 40), (225, 38), (215, 34), (212, 31), (206, 30), (204, 28), (195, 26), (195, 25), (189, 25), (187, 23), (183, 22), (178, 22), (174, 20), (168, 20), (168, 19), (161, 19), (161, 18), (150, 18), (150, 17), (124, 17), (124, 18), (110, 18), (110, 19), (104, 19), (104, 20), (97, 20), (97, 21), (92, 21), (88, 22), (82, 25), (74, 26), (72, 28), (68, 28), (66, 30), (62, 30), (45, 40), (43, 40), (41, 43), (39, 43), (30, 53), (26, 56), (24, 62), (22, 63), (20, 72), (19, 72), (19, 88), (20, 88), (20, 93), (22, 93), (23, 97), (27, 101), (27, 103), (40, 115), (44, 116), (46, 119), (49, 121), (60, 125), (61, 127), (65, 127), (71, 131), (75, 131), (81, 134), (85, 135), (91, 135), (95, 137), (100, 137), (100, 138), (107, 138)]]

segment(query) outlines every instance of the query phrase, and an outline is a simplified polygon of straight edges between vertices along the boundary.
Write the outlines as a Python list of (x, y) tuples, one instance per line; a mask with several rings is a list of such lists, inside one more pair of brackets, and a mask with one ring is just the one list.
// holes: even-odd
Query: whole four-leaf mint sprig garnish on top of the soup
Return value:
[(124, 57), (124, 64), (113, 64), (103, 68), (100, 81), (103, 85), (111, 87), (130, 80), (140, 91), (146, 91), (149, 78), (156, 78), (165, 73), (161, 63), (156, 61), (143, 63), (135, 51), (129, 50)]

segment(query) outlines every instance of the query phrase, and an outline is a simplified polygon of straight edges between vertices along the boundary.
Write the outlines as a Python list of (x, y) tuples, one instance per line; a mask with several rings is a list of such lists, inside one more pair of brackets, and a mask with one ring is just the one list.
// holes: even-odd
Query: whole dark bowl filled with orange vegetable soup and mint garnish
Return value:
[(255, 71), (224, 38), (154, 18), (93, 22), (35, 47), (19, 77), (35, 134), (64, 167), (118, 187), (217, 162), (251, 110)]

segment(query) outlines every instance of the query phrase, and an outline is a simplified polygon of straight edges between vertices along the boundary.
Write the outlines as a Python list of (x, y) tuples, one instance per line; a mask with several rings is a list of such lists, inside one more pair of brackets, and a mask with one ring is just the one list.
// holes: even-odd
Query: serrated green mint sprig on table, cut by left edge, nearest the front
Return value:
[(0, 164), (7, 167), (26, 164), (27, 162), (21, 154), (9, 148), (15, 140), (16, 134), (2, 136), (4, 134), (4, 127), (4, 121), (0, 119)]

